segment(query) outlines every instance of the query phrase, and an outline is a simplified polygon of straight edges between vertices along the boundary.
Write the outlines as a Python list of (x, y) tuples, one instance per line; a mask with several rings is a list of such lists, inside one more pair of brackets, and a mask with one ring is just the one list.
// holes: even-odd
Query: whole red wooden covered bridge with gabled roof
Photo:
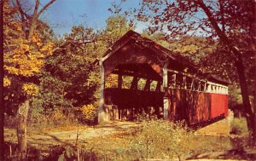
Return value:
[[(141, 112), (189, 125), (224, 118), (228, 83), (200, 72), (181, 55), (127, 32), (94, 62), (101, 67), (98, 122), (132, 119)], [(116, 86), (106, 81), (115, 75)], [(130, 84), (124, 85), (125, 78)], [(143, 85), (138, 84), (143, 80)]]

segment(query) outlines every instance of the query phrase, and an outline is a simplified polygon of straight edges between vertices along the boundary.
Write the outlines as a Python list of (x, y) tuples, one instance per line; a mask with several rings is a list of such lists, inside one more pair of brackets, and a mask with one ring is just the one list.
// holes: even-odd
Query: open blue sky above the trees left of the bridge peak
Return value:
[[(109, 8), (115, 0), (56, 0), (40, 17), (49, 23), (56, 35), (70, 33), (72, 26), (90, 26), (103, 29), (106, 20), (113, 15)], [(49, 0), (41, 0), (41, 4)], [(115, 1), (119, 3), (119, 0)], [(127, 0), (123, 8), (137, 7), (139, 0)], [(42, 7), (41, 5), (41, 7)], [(137, 24), (137, 32), (143, 31), (146, 26)]]

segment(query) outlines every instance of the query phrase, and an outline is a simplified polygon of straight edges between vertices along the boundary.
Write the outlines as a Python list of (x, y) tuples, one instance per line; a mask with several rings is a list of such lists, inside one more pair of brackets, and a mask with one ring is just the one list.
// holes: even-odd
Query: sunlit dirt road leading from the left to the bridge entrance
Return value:
[[(44, 129), (38, 131), (27, 132), (27, 143), (33, 147), (39, 145), (74, 145), (79, 135), (79, 142), (93, 137), (106, 136), (118, 132), (125, 131), (132, 127), (136, 127), (134, 122), (115, 121), (108, 124), (97, 125), (95, 127), (79, 127), (78, 129), (63, 130), (63, 129)], [(16, 141), (15, 129), (5, 129), (5, 141)]]

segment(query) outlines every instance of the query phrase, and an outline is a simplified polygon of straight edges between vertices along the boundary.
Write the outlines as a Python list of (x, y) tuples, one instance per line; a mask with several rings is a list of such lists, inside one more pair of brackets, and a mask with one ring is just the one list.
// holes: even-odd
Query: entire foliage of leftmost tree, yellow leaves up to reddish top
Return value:
[(45, 43), (44, 32), (36, 29), (31, 40), (22, 30), (22, 22), (16, 19), (17, 9), (4, 5), (4, 69), (7, 74), (32, 77), (41, 72), (45, 55), (51, 55), (53, 43)]

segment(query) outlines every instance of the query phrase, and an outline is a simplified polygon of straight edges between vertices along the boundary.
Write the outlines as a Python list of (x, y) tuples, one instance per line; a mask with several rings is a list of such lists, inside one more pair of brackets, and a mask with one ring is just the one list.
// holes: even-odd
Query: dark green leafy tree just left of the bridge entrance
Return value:
[(100, 49), (96, 37), (92, 28), (73, 26), (72, 33), (48, 56), (40, 77), (39, 99), (44, 101), (44, 112), (61, 109), (67, 114), (73, 106), (94, 101), (96, 80), (90, 78), (93, 72), (90, 62), (96, 59)]

